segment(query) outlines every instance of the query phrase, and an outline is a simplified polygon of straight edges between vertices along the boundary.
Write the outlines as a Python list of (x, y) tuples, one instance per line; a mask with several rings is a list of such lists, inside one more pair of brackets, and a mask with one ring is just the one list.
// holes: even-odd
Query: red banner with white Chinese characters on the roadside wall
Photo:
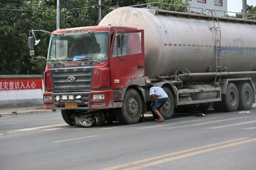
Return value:
[(0, 79), (0, 91), (42, 89), (42, 78)]

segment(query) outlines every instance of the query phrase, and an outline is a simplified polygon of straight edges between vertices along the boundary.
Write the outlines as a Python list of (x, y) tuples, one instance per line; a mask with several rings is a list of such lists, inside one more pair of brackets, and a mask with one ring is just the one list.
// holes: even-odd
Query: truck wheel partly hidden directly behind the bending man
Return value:
[[(162, 89), (168, 95), (168, 100), (162, 106), (162, 117), (164, 119), (168, 120), (173, 115), (173, 111), (174, 111), (174, 98), (173, 98), (172, 92), (170, 91), (170, 89), (168, 87), (162, 87)], [(152, 111), (152, 114), (153, 114), (154, 118), (158, 118), (158, 116), (155, 114), (155, 112)]]

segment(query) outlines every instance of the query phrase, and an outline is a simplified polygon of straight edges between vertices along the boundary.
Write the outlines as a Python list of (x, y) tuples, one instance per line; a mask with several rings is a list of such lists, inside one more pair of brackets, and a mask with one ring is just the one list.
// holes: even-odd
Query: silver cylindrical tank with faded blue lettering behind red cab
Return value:
[[(108, 13), (99, 26), (144, 30), (145, 74), (149, 78), (185, 68), (193, 73), (216, 72), (216, 39), (221, 41), (222, 68), (228, 72), (255, 71), (256, 21), (219, 19), (221, 37), (216, 38), (213, 18), (201, 16), (121, 7)], [(209, 81), (206, 77), (196, 79)]]

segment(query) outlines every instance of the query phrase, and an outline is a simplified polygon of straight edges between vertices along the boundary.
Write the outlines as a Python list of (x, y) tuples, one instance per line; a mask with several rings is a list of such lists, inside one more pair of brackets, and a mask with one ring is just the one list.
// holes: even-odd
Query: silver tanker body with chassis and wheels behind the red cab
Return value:
[(209, 14), (121, 7), (99, 23), (144, 30), (146, 81), (168, 92), (166, 119), (184, 105), (236, 111), (255, 102), (256, 21)]

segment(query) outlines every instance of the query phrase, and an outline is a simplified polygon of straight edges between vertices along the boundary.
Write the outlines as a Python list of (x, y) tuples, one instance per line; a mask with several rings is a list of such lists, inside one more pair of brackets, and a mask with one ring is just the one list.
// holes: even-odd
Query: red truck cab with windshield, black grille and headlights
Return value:
[(45, 109), (122, 107), (131, 82), (144, 81), (143, 36), (143, 30), (117, 26), (54, 31), (44, 72)]

